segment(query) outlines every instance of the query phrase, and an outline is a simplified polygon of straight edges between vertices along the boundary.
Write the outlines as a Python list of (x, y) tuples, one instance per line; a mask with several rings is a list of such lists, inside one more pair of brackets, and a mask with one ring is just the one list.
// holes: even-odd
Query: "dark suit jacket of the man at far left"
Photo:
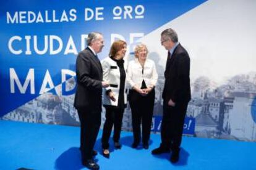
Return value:
[(103, 72), (100, 60), (88, 47), (77, 56), (76, 73), (75, 108), (101, 110)]

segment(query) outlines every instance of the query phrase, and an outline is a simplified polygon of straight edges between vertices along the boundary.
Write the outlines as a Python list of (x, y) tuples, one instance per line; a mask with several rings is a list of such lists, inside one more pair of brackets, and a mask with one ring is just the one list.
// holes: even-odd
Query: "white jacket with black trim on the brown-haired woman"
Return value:
[[(116, 61), (111, 59), (110, 57), (106, 57), (106, 59), (101, 61), (101, 65), (103, 68), (103, 81), (109, 81), (109, 87), (103, 88), (103, 105), (113, 105), (117, 106), (118, 97), (119, 97), (119, 87), (120, 87), (120, 70), (117, 66)], [(127, 62), (124, 62), (124, 70), (127, 70)], [(126, 71), (127, 72), (127, 71)], [(126, 73), (127, 78), (127, 73)], [(126, 90), (126, 80), (124, 83), (124, 103), (127, 103), (127, 90)], [(114, 93), (114, 97), (116, 101), (111, 100), (108, 95), (106, 95), (106, 91), (111, 90)]]

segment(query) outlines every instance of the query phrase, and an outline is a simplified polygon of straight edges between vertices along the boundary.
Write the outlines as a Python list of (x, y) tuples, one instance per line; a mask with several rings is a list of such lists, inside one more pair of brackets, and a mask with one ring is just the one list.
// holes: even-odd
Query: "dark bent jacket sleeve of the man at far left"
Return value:
[[(92, 63), (85, 57), (84, 54), (80, 53), (77, 56), (77, 79), (82, 86), (87, 87), (88, 89), (101, 89), (101, 81), (92, 78), (91, 70)], [(95, 68), (96, 69), (96, 68)]]

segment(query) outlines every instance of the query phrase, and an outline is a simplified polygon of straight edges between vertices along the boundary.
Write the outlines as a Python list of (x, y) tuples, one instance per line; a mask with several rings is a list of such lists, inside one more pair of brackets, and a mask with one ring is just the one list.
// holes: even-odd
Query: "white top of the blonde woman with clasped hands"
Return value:
[(142, 67), (138, 59), (130, 61), (127, 69), (127, 82), (130, 85), (130, 89), (134, 86), (140, 89), (143, 79), (147, 87), (156, 86), (158, 74), (156, 72), (155, 62), (146, 59)]

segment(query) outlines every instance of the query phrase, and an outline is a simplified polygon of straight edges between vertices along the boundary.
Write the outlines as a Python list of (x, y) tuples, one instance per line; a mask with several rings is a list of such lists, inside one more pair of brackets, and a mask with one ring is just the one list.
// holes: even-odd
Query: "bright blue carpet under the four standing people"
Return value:
[[(0, 121), (0, 169), (85, 169), (80, 163), (79, 127)], [(151, 155), (160, 135), (151, 134), (150, 148), (130, 147), (132, 133), (122, 132), (122, 149), (101, 155), (101, 131), (95, 145), (100, 169), (256, 169), (253, 142), (184, 137), (181, 159)], [(111, 141), (111, 146), (113, 143)]]

